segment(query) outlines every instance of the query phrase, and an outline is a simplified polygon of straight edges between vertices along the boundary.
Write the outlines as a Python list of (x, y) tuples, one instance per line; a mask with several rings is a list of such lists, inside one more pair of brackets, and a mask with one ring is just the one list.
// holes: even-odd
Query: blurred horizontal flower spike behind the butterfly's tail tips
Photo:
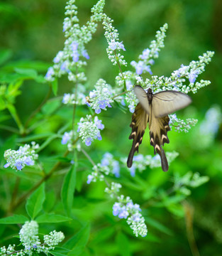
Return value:
[[(176, 151), (166, 152), (167, 160), (169, 164), (178, 156), (179, 154)], [(121, 159), (123, 164), (126, 164), (126, 158)], [(139, 172), (144, 171), (147, 167), (156, 168), (161, 166), (160, 156), (156, 154), (155, 156), (138, 154), (133, 156), (133, 166), (128, 170), (131, 173), (131, 176), (135, 176), (135, 171)]]

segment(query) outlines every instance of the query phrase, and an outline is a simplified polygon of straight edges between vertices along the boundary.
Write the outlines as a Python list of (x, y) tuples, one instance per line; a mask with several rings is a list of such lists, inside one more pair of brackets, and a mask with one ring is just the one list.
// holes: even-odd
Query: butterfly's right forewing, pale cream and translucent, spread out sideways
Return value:
[(187, 107), (191, 102), (192, 99), (182, 92), (173, 90), (157, 92), (152, 96), (152, 110), (155, 117), (165, 117)]

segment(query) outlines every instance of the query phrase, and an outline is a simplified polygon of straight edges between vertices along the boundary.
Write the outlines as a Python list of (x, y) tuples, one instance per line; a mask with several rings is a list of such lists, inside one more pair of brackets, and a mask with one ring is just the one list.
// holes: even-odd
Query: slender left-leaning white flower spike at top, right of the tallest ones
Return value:
[(121, 53), (117, 53), (117, 50), (126, 50), (123, 46), (123, 42), (119, 42), (118, 31), (113, 27), (113, 20), (109, 18), (106, 14), (103, 14), (103, 25), (105, 29), (105, 37), (107, 43), (109, 44), (106, 48), (109, 59), (113, 65), (127, 65), (124, 56)]

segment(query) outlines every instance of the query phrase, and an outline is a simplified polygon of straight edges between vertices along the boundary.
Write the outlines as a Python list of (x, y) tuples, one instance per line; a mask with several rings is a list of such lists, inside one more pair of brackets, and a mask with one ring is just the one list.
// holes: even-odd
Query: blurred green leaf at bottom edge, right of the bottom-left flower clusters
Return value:
[(89, 232), (90, 226), (86, 224), (76, 235), (65, 243), (64, 247), (71, 250), (68, 255), (78, 255), (84, 250), (89, 240)]

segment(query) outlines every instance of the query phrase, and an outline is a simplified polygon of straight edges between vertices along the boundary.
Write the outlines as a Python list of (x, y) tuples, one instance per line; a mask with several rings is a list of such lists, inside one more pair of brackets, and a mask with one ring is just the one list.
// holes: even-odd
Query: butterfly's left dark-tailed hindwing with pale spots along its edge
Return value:
[(130, 127), (132, 128), (131, 135), (129, 139), (133, 139), (133, 145), (131, 151), (128, 155), (127, 166), (130, 168), (133, 164), (133, 156), (135, 151), (138, 151), (140, 144), (143, 140), (143, 134), (145, 128), (148, 125), (149, 116), (143, 107), (138, 103), (135, 107), (135, 112), (132, 115), (132, 122)]

